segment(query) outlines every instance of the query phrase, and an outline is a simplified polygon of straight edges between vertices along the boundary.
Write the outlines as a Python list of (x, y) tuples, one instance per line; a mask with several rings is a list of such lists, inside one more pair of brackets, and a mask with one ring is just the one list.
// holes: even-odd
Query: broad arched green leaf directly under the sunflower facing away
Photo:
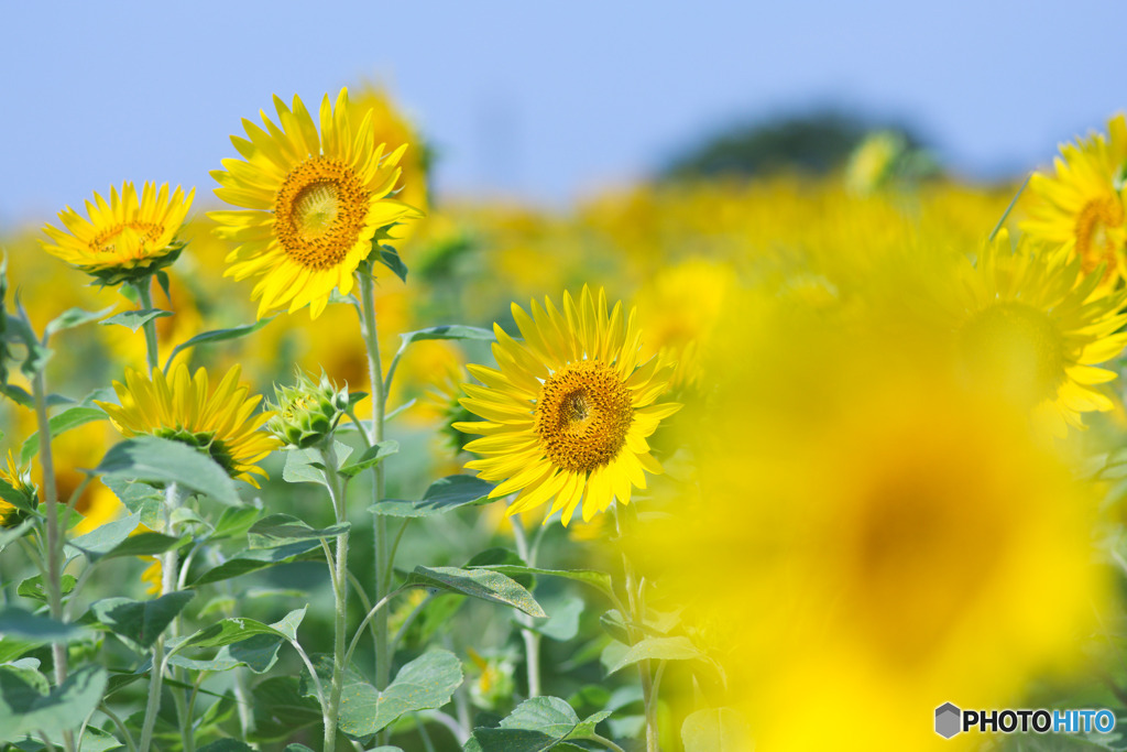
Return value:
[(96, 472), (144, 483), (175, 483), (223, 504), (241, 504), (234, 481), (219, 462), (199, 450), (168, 439), (126, 439), (106, 452)]

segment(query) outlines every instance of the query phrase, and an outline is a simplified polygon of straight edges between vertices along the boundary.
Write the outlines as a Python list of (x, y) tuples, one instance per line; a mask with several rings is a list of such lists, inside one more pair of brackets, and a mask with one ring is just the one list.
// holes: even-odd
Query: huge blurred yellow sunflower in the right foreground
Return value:
[(983, 740), (937, 736), (937, 706), (1026, 707), (1077, 667), (1110, 594), (1092, 489), (929, 345), (792, 319), (718, 333), (699, 499), (631, 545), (686, 622), (721, 627), (756, 749), (966, 749)]

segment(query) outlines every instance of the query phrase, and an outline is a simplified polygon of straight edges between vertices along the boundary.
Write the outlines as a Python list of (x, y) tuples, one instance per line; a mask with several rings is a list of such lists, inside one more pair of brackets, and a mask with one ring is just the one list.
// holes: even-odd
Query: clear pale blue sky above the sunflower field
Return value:
[(818, 101), (907, 120), (966, 172), (1018, 171), (1127, 107), (1125, 29), (1121, 0), (8, 0), (0, 223), (125, 179), (206, 200), (272, 94), (363, 79), (423, 126), (447, 194), (559, 204)]

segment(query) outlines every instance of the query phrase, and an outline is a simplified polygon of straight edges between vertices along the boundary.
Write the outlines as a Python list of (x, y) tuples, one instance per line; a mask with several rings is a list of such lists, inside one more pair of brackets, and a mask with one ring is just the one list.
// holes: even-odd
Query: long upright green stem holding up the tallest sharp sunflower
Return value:
[[(364, 335), (364, 346), (367, 350), (369, 386), (372, 390), (372, 427), (369, 433), (369, 445), (374, 446), (383, 441), (383, 415), (388, 396), (383, 389), (383, 368), (380, 363), (380, 340), (375, 324), (375, 285), (372, 269), (366, 264), (360, 269), (361, 293), (361, 328)], [(375, 466), (375, 483), (372, 487), (372, 503), (383, 498), (383, 462)], [(374, 515), (375, 539), (375, 601), (381, 602), (391, 589), (392, 561), (388, 556), (388, 524), (382, 514)], [(387, 688), (391, 680), (391, 656), (389, 655), (388, 612), (381, 610), (375, 614), (375, 687)]]

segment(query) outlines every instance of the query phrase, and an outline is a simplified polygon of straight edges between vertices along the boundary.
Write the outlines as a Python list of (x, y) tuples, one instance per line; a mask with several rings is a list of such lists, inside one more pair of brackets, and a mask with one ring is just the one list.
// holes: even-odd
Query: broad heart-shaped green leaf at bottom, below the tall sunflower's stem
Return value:
[(354, 673), (347, 674), (345, 681), (338, 727), (349, 736), (363, 738), (403, 714), (449, 702), (462, 683), (462, 662), (447, 651), (425, 653), (400, 669), (382, 692)]

